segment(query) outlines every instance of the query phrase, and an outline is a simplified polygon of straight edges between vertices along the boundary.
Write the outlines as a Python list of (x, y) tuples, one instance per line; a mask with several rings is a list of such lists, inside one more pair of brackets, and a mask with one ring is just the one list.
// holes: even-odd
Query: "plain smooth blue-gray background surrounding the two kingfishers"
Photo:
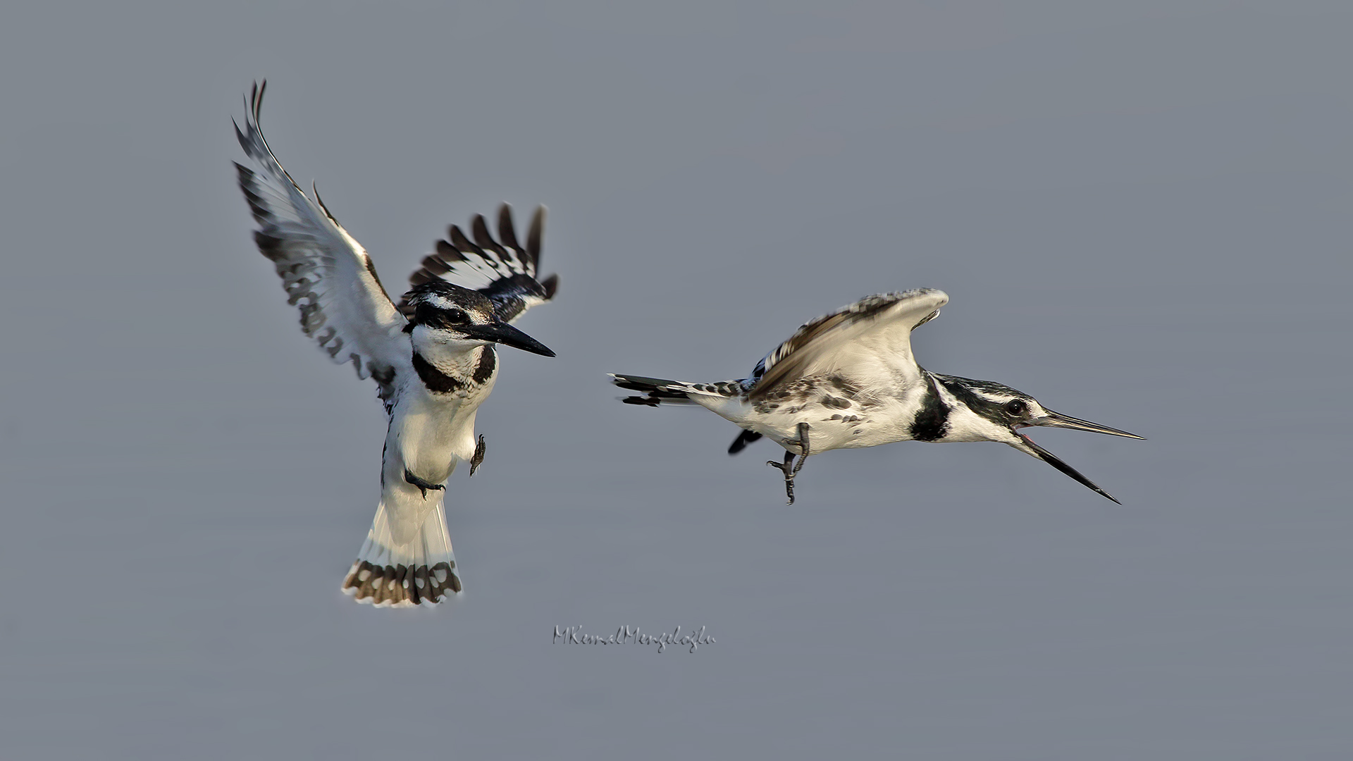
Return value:
[[(37, 4), (31, 4), (37, 5)], [(828, 9), (831, 8), (831, 9)], [(5, 758), (1353, 754), (1346, 3), (221, 3), (0, 24)], [(384, 418), (302, 337), (264, 129), (396, 290), (548, 203), (556, 303), (359, 607)], [(944, 288), (927, 367), (1147, 436), (813, 458), (621, 406)], [(551, 645), (708, 627), (695, 654)]]

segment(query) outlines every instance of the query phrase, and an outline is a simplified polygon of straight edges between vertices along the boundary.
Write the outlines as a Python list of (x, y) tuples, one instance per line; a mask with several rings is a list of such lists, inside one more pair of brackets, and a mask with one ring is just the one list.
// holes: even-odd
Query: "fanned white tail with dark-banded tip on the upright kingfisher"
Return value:
[(438, 501), (410, 542), (398, 544), (390, 531), (386, 504), (376, 508), (367, 542), (342, 582), (345, 594), (377, 608), (434, 605), (460, 592), (456, 555)]

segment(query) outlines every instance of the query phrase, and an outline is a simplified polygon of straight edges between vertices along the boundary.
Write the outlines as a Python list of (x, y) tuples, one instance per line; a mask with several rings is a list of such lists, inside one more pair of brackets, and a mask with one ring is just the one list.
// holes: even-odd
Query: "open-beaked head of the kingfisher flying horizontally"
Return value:
[[(973, 439), (985, 439), (1009, 444), (1026, 455), (1038, 458), (1057, 470), (1070, 475), (1076, 481), (1089, 486), (1095, 492), (1109, 497), (1089, 478), (1081, 475), (1076, 469), (1058, 459), (1053, 452), (1034, 443), (1032, 439), (1019, 432), (1020, 428), (1046, 427), (1070, 428), (1073, 431), (1089, 431), (1091, 433), (1107, 433), (1109, 436), (1126, 436), (1128, 439), (1142, 439), (1135, 433), (1100, 425), (1078, 417), (1053, 412), (1039, 404), (1034, 397), (1003, 386), (990, 380), (971, 380), (967, 378), (936, 376), (948, 393), (971, 410), (969, 417)], [(1118, 500), (1114, 500), (1118, 502)]]

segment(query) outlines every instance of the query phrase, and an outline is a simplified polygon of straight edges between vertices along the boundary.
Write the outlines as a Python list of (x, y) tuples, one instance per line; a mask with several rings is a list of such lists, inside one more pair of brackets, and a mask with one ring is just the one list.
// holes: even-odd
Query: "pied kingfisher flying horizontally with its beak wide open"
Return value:
[(940, 375), (916, 364), (911, 333), (946, 303), (948, 297), (934, 288), (862, 298), (805, 322), (743, 380), (685, 383), (613, 374), (612, 382), (644, 391), (621, 399), (625, 404), (697, 404), (736, 422), (743, 432), (728, 447), (729, 455), (762, 436), (774, 439), (785, 447), (785, 462), (766, 464), (785, 474), (790, 505), (794, 477), (808, 455), (893, 441), (1000, 441), (1114, 500), (1019, 429), (1050, 425), (1141, 436), (1055, 413), (1009, 386)]

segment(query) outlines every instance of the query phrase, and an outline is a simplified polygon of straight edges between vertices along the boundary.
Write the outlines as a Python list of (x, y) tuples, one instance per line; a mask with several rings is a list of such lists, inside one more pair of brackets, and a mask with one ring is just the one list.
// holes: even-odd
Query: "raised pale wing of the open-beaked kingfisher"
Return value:
[(870, 385), (920, 380), (911, 333), (948, 303), (944, 291), (878, 294), (805, 322), (752, 370), (751, 398), (808, 375), (840, 375)]

